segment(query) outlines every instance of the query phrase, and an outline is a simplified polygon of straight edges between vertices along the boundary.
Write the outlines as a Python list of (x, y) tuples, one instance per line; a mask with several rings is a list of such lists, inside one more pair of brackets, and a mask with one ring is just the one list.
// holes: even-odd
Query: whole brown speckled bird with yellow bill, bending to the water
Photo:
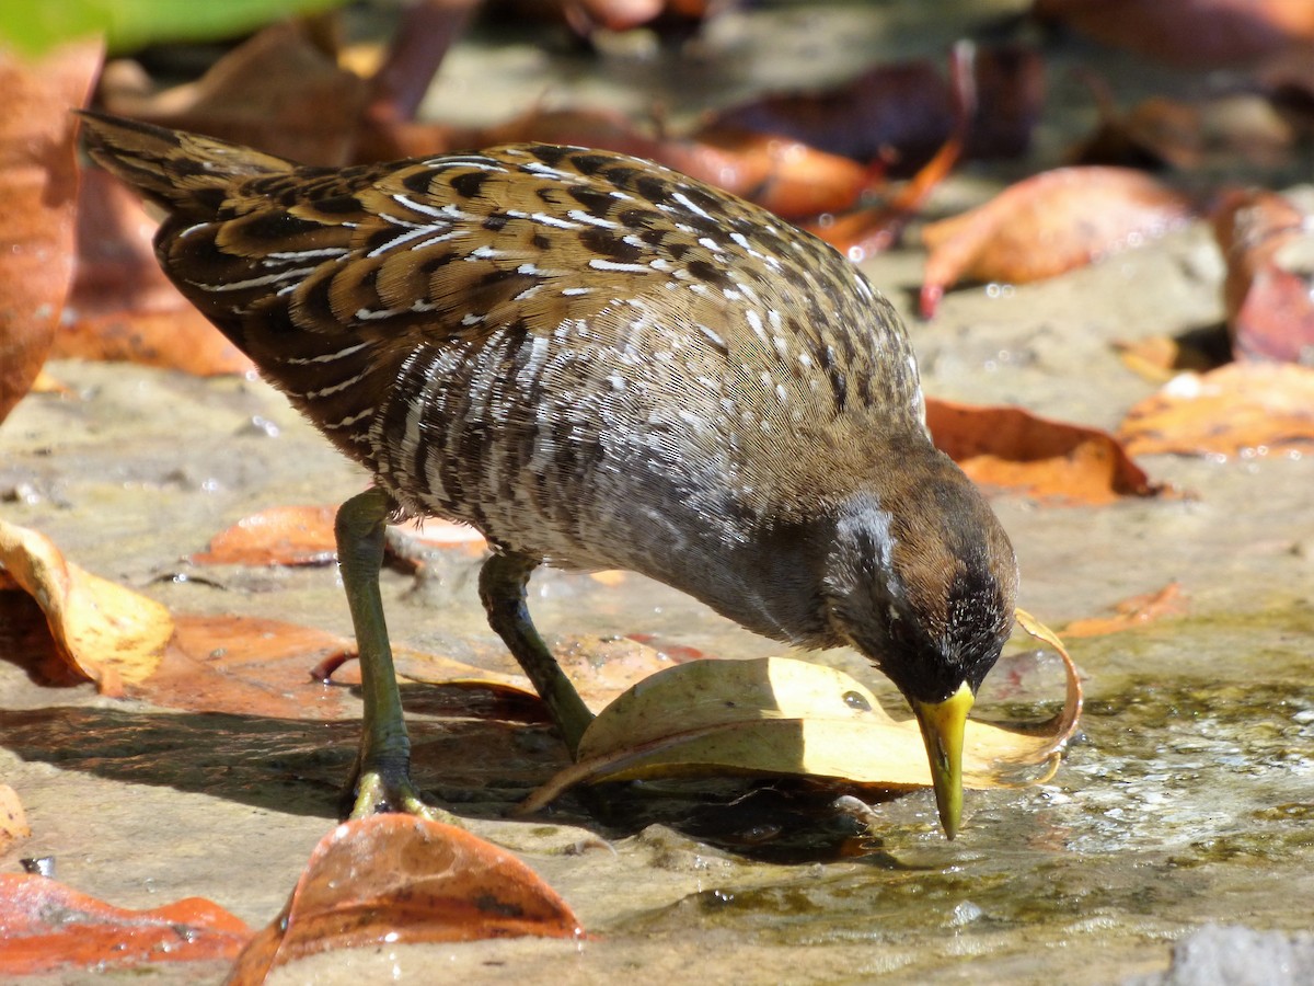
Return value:
[(786, 644), (851, 647), (920, 724), (941, 827), (1017, 560), (925, 426), (891, 302), (844, 255), (657, 163), (512, 143), (310, 167), (81, 112), (163, 212), (160, 267), (372, 485), (342, 505), (363, 676), (352, 816), (432, 810), (378, 585), (385, 525), (491, 548), (480, 598), (572, 757), (591, 713), (536, 631), (543, 564), (625, 569)]

